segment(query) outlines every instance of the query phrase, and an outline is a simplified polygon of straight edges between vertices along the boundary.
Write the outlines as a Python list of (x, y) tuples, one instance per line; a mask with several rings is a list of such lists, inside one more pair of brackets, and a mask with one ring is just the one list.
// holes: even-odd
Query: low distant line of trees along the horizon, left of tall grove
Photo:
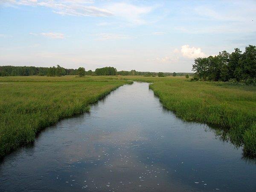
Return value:
[[(82, 72), (81, 72), (82, 70)], [(96, 76), (157, 76), (156, 72), (140, 72), (117, 71), (114, 67), (97, 68), (95, 71), (79, 69), (65, 69), (57, 65), (57, 67), (16, 67), (16, 66), (0, 66), (0, 76), (65, 76), (65, 75), (96, 75)], [(192, 75), (193, 73), (175, 73), (176, 76)], [(163, 73), (164, 76), (172, 76), (173, 73)]]

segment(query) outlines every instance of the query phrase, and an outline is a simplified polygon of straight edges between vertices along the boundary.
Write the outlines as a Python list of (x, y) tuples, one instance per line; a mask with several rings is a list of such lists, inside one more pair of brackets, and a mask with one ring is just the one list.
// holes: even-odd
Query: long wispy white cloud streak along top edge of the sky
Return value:
[(93, 0), (3, 0), (9, 5), (43, 6), (61, 15), (108, 17), (116, 16), (132, 24), (144, 24), (142, 16), (152, 10), (149, 6), (112, 3), (105, 7), (93, 6)]

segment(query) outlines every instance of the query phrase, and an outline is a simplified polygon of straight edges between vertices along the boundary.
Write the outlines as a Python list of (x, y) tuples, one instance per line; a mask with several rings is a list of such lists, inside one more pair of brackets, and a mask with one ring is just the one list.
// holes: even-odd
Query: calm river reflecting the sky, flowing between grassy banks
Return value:
[(134, 82), (0, 164), (1, 191), (256, 191), (256, 164)]

